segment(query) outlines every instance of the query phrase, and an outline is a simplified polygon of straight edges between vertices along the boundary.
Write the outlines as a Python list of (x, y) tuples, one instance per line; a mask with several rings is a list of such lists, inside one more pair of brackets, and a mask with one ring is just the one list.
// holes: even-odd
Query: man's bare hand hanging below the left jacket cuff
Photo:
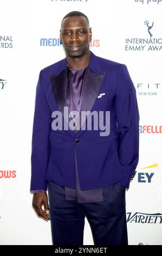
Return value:
[[(43, 217), (46, 220), (50, 219), (50, 216), (48, 215), (50, 211), (49, 211), (49, 205), (48, 205), (47, 192), (34, 193), (32, 205), (36, 210), (38, 216)], [(44, 206), (45, 210), (42, 209), (42, 206)]]

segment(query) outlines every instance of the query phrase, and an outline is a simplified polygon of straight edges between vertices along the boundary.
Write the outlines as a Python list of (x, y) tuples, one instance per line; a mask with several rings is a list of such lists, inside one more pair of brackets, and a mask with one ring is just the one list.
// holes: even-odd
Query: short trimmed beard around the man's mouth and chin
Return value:
[[(80, 44), (78, 44), (80, 45)], [(71, 57), (71, 58), (80, 58), (82, 56), (84, 56), (88, 51), (89, 51), (89, 41), (86, 44), (82, 44), (81, 47), (76, 50), (73, 51), (72, 48), (70, 48), (69, 46), (73, 46), (72, 45), (63, 45), (64, 51), (66, 52), (67, 56)], [(77, 46), (77, 44), (75, 44), (75, 46)]]

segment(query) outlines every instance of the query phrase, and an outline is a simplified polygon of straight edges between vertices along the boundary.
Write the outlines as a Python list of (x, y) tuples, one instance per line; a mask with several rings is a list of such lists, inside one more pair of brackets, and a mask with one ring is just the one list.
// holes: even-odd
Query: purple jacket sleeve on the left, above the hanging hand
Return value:
[(35, 97), (33, 136), (31, 149), (31, 182), (30, 191), (47, 190), (45, 174), (48, 166), (50, 147), (49, 130), (51, 111), (43, 92), (42, 71), (38, 78)]

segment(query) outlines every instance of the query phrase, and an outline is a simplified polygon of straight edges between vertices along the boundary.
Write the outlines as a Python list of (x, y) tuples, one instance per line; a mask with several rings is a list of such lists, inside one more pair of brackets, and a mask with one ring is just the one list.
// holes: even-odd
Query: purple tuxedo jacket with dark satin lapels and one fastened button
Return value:
[[(139, 159), (139, 111), (126, 65), (90, 51), (81, 111), (110, 111), (110, 133), (51, 128), (54, 111), (66, 105), (67, 58), (44, 68), (36, 88), (31, 152), (31, 190), (47, 182), (76, 188), (75, 154), (81, 190), (117, 181), (129, 188)], [(105, 93), (102, 97), (100, 94)], [(93, 124), (92, 124), (93, 127)], [(79, 139), (79, 140), (78, 140)], [(79, 142), (78, 142), (79, 141)]]

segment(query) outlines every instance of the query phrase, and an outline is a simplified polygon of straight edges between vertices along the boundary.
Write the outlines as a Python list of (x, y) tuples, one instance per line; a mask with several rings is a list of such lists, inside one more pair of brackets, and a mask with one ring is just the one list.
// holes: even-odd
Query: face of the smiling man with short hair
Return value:
[(72, 58), (84, 56), (89, 51), (91, 38), (92, 31), (85, 17), (72, 16), (62, 21), (60, 39), (67, 56)]

